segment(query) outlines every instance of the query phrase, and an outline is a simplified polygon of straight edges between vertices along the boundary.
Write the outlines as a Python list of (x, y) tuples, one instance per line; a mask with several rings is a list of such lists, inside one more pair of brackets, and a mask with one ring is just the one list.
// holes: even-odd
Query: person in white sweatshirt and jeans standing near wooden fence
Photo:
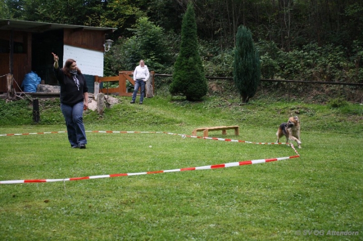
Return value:
[(139, 87), (141, 87), (139, 104), (142, 105), (142, 103), (144, 101), (144, 96), (145, 96), (145, 84), (146, 84), (147, 80), (149, 79), (149, 75), (150, 75), (149, 69), (145, 65), (144, 60), (141, 59), (140, 64), (138, 66), (136, 66), (136, 68), (134, 70), (135, 85), (134, 85), (133, 97), (130, 102), (131, 104), (135, 104), (136, 95), (139, 91)]

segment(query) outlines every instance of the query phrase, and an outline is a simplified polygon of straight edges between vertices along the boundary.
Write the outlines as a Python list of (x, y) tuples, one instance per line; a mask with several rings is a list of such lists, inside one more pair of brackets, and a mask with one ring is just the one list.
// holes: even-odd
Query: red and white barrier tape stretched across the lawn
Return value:
[[(52, 131), (52, 132), (36, 132), (36, 133), (22, 133), (22, 134), (3, 134), (0, 136), (12, 136), (12, 135), (31, 135), (31, 134), (48, 134), (48, 133), (65, 133), (67, 131)], [(275, 143), (275, 142), (250, 142), (244, 140), (232, 140), (232, 139), (223, 139), (223, 138), (215, 138), (215, 137), (201, 137), (201, 136), (191, 136), (191, 135), (182, 135), (182, 134), (174, 134), (170, 132), (161, 132), (161, 131), (86, 131), (86, 132), (96, 132), (96, 133), (165, 133), (170, 135), (179, 135), (183, 138), (192, 137), (192, 138), (201, 138), (201, 139), (212, 139), (212, 140), (222, 140), (222, 141), (231, 141), (231, 142), (243, 142), (243, 143), (252, 143), (252, 144), (286, 144), (286, 143)], [(183, 171), (194, 171), (194, 170), (207, 170), (207, 169), (217, 169), (217, 168), (229, 168), (229, 167), (237, 167), (244, 165), (252, 165), (252, 164), (260, 164), (260, 163), (269, 163), (278, 160), (290, 159), (300, 157), (297, 153), (296, 149), (290, 143), (291, 148), (295, 151), (297, 155), (294, 156), (286, 156), (286, 157), (277, 157), (270, 159), (256, 159), (256, 160), (245, 160), (243, 162), (234, 162), (234, 163), (226, 163), (226, 164), (218, 164), (211, 166), (203, 166), (203, 167), (195, 167), (195, 168), (181, 168), (181, 169), (173, 169), (173, 170), (163, 170), (163, 171), (154, 171), (154, 172), (142, 172), (142, 173), (123, 173), (123, 174), (110, 174), (110, 175), (99, 175), (99, 176), (88, 176), (88, 177), (80, 177), (80, 178), (66, 178), (66, 179), (32, 179), (32, 180), (11, 180), (11, 181), (0, 181), (0, 184), (18, 184), (18, 183), (46, 183), (46, 182), (65, 182), (65, 181), (77, 181), (77, 180), (85, 180), (85, 179), (98, 179), (98, 178), (113, 178), (113, 177), (123, 177), (123, 176), (136, 176), (136, 175), (145, 175), (145, 174), (158, 174), (158, 173), (171, 173), (171, 172), (183, 172)]]

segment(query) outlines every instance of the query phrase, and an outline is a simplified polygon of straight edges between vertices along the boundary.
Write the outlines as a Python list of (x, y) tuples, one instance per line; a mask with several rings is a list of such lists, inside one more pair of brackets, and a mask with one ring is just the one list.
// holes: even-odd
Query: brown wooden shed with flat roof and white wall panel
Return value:
[[(7, 92), (7, 74), (13, 74), (13, 87), (21, 91), (25, 74), (37, 73), (44, 84), (57, 85), (53, 75), (53, 55), (59, 66), (68, 58), (77, 61), (86, 75), (103, 76), (104, 44), (107, 33), (115, 28), (52, 24), (0, 19), (0, 93)], [(89, 87), (93, 89), (93, 83)]]

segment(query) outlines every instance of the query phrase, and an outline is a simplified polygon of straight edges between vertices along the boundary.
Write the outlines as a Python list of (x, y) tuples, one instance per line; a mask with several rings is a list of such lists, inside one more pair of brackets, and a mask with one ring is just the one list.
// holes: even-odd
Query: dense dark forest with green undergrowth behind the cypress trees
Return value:
[[(363, 2), (354, 0), (189, 0), (197, 19), (200, 55), (207, 76), (232, 77), (237, 28), (252, 32), (262, 79), (363, 83)], [(133, 70), (144, 59), (150, 70), (172, 74), (188, 0), (5, 0), (0, 18), (117, 28), (105, 54), (104, 75)], [(159, 93), (171, 77), (156, 82)], [(213, 81), (210, 92), (233, 85)], [(214, 87), (214, 88), (212, 88)], [(362, 102), (361, 86), (262, 82), (260, 92), (325, 102)], [(273, 90), (273, 92), (271, 92)]]

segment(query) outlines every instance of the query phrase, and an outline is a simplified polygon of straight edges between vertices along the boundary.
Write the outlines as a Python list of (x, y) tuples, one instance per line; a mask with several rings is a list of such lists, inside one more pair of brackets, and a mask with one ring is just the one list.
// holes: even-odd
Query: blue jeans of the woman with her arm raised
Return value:
[(68, 140), (71, 146), (87, 144), (86, 131), (83, 124), (83, 102), (74, 106), (61, 104), (61, 110), (66, 120)]

